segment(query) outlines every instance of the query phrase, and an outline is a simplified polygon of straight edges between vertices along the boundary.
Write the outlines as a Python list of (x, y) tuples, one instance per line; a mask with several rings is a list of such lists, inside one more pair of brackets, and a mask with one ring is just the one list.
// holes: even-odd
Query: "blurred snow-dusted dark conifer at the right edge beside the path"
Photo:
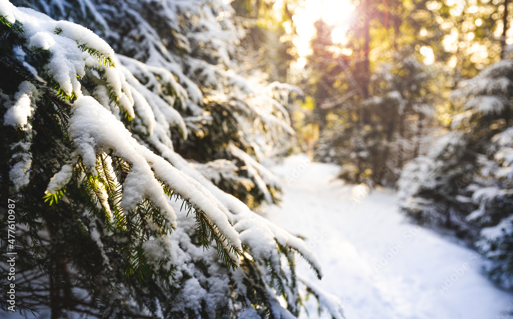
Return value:
[(511, 99), (513, 61), (503, 60), (460, 83), (462, 110), (427, 156), (402, 175), (402, 208), (427, 225), (452, 229), (491, 260), (490, 277), (511, 281)]

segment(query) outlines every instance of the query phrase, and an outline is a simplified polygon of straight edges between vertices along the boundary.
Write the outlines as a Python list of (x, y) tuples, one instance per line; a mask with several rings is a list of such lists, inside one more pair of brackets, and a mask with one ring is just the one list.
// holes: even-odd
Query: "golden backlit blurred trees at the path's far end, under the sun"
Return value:
[[(329, 1), (319, 6), (336, 10)], [(345, 179), (394, 186), (404, 163), (425, 153), (430, 134), (447, 129), (460, 111), (448, 99), (451, 90), (508, 56), (511, 4), (337, 6), (350, 14), (330, 24), (329, 14), (321, 12), (299, 80), (307, 92), (306, 121), (320, 132), (310, 151), (340, 164)]]

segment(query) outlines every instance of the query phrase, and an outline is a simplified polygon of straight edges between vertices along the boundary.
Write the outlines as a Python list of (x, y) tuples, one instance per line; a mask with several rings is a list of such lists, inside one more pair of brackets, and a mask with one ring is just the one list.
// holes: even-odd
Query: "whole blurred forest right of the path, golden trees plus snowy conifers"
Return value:
[[(283, 10), (281, 42), (292, 47), (273, 64), (289, 63), (287, 81), (305, 92), (291, 110), (302, 149), (339, 164), (351, 183), (399, 189), (406, 214), (453, 232), (491, 260), (496, 283), (513, 288), (513, 4), (306, 0), (275, 7)], [(299, 52), (301, 10), (319, 16), (312, 32), (303, 30), (309, 46)]]

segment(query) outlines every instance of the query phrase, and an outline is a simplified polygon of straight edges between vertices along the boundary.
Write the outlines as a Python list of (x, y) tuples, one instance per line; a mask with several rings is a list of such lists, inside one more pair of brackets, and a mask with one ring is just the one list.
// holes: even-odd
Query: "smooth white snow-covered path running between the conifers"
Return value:
[[(318, 285), (340, 298), (347, 319), (513, 318), (513, 295), (480, 272), (483, 260), (410, 223), (393, 192), (367, 194), (337, 180), (337, 166), (310, 164), (305, 155), (272, 171), (283, 179), (284, 194), (267, 218), (306, 238), (323, 266)], [(298, 271), (315, 281), (298, 261)]]

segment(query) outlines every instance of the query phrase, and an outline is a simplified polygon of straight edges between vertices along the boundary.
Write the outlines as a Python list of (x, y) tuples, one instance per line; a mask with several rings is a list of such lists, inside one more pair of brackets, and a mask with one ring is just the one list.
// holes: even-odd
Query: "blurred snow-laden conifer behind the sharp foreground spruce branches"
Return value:
[[(177, 153), (195, 161), (201, 172), (210, 173), (211, 180), (250, 206), (276, 200), (279, 185), (269, 172), (260, 172), (261, 166), (232, 151), (240, 148), (257, 161), (287, 152), (293, 130), (285, 107), (301, 91), (266, 83), (263, 74), (255, 74), (238, 59), (248, 55), (238, 48), (245, 32), (229, 5), (130, 0), (14, 4), (55, 19), (71, 19), (100, 34), (133, 76), (175, 105), (183, 117), (187, 130), (171, 127)], [(176, 97), (170, 100), (173, 94)], [(187, 139), (177, 138), (185, 131)], [(208, 164), (221, 159), (229, 161)], [(213, 172), (216, 169), (218, 173)]]

